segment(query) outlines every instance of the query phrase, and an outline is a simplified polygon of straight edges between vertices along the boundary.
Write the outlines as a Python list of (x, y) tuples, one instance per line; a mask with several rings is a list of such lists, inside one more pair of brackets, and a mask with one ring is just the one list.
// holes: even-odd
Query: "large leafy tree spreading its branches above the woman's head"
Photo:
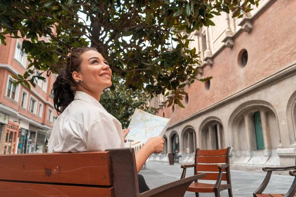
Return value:
[[(30, 65), (18, 82), (35, 86), (35, 70), (56, 73), (71, 47), (91, 45), (132, 90), (170, 91), (183, 106), (182, 88), (197, 79), (196, 49), (188, 36), (230, 11), (242, 17), (259, 0), (0, 0), (0, 39), (24, 38)], [(50, 42), (39, 39), (49, 37)], [(172, 42), (176, 42), (173, 47)], [(206, 79), (197, 79), (205, 81)], [(169, 94), (169, 92), (168, 92)]]

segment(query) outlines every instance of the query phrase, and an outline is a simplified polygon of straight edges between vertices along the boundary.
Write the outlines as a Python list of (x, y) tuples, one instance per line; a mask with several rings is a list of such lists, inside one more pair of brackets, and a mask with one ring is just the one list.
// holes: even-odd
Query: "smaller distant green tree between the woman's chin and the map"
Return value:
[(101, 95), (100, 103), (122, 124), (128, 128), (130, 118), (135, 108), (155, 114), (156, 108), (148, 107), (148, 96), (142, 90), (127, 90), (124, 81), (115, 77), (113, 80), (115, 90), (107, 89)]

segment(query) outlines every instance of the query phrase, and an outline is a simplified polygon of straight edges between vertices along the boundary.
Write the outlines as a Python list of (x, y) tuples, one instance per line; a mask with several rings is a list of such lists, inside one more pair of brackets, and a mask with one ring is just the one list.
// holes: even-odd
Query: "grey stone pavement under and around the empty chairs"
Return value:
[[(179, 180), (183, 170), (180, 164), (169, 165), (160, 162), (146, 162), (146, 166), (147, 168), (143, 168), (139, 174), (144, 176), (150, 189)], [(193, 168), (187, 168), (186, 177), (193, 174)], [(264, 172), (231, 170), (233, 197), (253, 197), (253, 192), (261, 185), (265, 175), (266, 173)], [(293, 180), (294, 177), (289, 175), (289, 171), (285, 171), (283, 174), (272, 174), (269, 184), (263, 193), (286, 194)], [(222, 191), (220, 194), (221, 197), (228, 197), (227, 190)], [(195, 193), (186, 192), (184, 197), (195, 197)], [(200, 193), (199, 197), (215, 197), (215, 195), (214, 193)]]

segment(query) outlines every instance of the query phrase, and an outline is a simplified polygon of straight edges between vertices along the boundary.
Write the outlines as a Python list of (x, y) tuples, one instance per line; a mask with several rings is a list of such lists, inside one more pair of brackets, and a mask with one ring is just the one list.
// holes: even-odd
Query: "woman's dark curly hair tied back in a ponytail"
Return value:
[(92, 47), (74, 48), (67, 58), (66, 66), (60, 70), (56, 81), (53, 83), (53, 103), (57, 112), (62, 113), (74, 100), (74, 92), (77, 90), (77, 82), (74, 81), (72, 73), (74, 71), (80, 71), (80, 65), (82, 62), (81, 55), (90, 50), (98, 51), (96, 48)]

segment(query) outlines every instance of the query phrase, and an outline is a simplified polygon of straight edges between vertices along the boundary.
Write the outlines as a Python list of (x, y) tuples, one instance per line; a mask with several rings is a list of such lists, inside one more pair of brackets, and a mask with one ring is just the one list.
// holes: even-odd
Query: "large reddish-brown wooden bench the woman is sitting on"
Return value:
[(139, 194), (132, 148), (0, 155), (1, 197), (183, 197), (188, 177)]

